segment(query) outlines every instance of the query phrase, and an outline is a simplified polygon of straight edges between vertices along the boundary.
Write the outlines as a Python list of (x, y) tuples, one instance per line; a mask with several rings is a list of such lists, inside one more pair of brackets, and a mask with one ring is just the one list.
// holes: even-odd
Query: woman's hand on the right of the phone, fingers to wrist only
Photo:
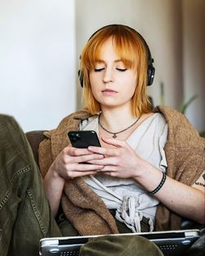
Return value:
[(130, 145), (120, 139), (105, 139), (103, 142), (112, 145), (114, 148), (107, 149), (101, 147), (92, 147), (88, 149), (93, 153), (100, 153), (105, 156), (103, 159), (93, 160), (90, 163), (103, 165), (99, 170), (108, 176), (119, 178), (137, 178), (139, 171), (144, 168), (144, 160), (131, 149)]

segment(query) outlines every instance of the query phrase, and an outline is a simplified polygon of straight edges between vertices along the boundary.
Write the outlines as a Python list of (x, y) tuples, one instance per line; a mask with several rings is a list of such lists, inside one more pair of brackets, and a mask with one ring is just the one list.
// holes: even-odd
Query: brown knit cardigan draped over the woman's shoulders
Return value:
[[(165, 145), (167, 176), (176, 181), (193, 185), (205, 169), (205, 139), (180, 112), (171, 107), (158, 106), (168, 124)], [(52, 162), (70, 141), (69, 130), (78, 130), (81, 120), (90, 117), (86, 111), (65, 117), (57, 129), (44, 133), (46, 139), (39, 145), (39, 166), (45, 176)], [(103, 200), (86, 185), (81, 177), (68, 180), (62, 193), (62, 209), (80, 235), (117, 233), (116, 222)], [(157, 206), (156, 231), (180, 229), (181, 218), (162, 203)]]

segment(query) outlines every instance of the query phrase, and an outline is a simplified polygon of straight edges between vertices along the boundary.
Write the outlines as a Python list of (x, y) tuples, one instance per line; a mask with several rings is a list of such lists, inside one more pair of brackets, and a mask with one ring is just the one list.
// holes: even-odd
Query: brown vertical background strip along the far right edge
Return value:
[(205, 131), (205, 1), (183, 0), (184, 88), (185, 101), (198, 98), (189, 106), (186, 116)]

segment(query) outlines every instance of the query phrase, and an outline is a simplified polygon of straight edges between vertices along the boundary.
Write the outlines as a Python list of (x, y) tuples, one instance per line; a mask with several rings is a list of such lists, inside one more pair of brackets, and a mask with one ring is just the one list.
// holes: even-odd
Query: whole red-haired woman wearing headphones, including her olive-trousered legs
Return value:
[[(181, 217), (204, 223), (204, 139), (174, 109), (151, 109), (146, 89), (154, 68), (142, 36), (125, 25), (98, 30), (81, 54), (82, 74), (86, 108), (46, 132), (40, 144), (43, 185), (22, 132), (14, 138), (21, 147), (8, 147), (14, 155), (18, 149), (17, 158), (2, 157), (8, 185), (0, 207), (10, 202), (9, 210), (0, 208), (5, 255), (8, 249), (35, 255), (45, 236), (177, 230)], [(7, 118), (2, 128), (8, 130), (2, 133), (2, 156), (13, 134), (11, 122)], [(73, 148), (70, 130), (95, 130), (102, 147)]]

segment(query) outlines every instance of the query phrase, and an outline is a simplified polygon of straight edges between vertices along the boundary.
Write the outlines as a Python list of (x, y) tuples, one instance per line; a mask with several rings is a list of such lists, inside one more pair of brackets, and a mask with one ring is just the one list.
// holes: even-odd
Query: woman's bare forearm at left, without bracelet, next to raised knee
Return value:
[(51, 166), (47, 175), (44, 177), (43, 187), (54, 217), (57, 215), (59, 204), (62, 198), (62, 190), (64, 184), (65, 180), (58, 176), (57, 172), (54, 171)]

